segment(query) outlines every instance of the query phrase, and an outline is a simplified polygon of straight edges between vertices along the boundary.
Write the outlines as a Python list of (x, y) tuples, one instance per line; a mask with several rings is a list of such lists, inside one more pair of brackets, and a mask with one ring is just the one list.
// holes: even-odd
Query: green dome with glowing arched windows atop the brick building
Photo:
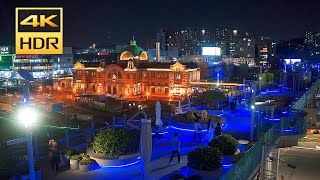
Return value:
[(130, 46), (123, 49), (120, 60), (129, 60), (129, 59), (137, 59), (137, 60), (147, 60), (148, 55), (147, 52), (144, 51), (141, 47), (137, 45), (137, 42), (132, 39), (130, 41)]

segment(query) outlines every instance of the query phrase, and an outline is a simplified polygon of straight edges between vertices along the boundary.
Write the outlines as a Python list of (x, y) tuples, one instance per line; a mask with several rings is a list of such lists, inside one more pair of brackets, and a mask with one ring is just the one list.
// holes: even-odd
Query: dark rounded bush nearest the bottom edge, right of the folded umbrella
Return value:
[(200, 147), (188, 154), (188, 165), (197, 170), (210, 171), (220, 168), (222, 153), (217, 148)]

